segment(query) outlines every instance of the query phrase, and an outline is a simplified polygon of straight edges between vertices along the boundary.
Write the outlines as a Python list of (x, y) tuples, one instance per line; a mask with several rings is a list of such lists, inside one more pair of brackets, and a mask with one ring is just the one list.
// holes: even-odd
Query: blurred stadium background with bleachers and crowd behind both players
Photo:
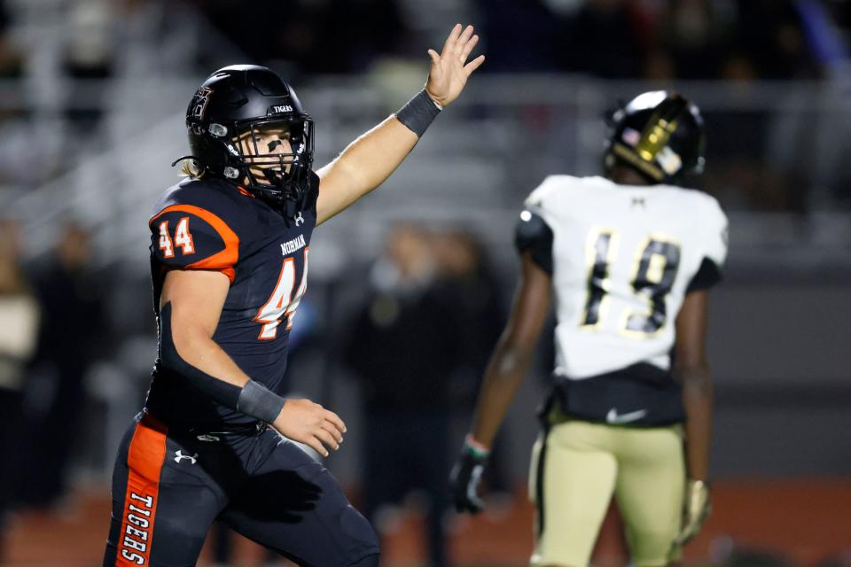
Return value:
[[(709, 333), (718, 501), (687, 563), (851, 564), (845, 0), (0, 1), (0, 563), (98, 564), (156, 353), (146, 221), (199, 82), (238, 62), (282, 74), (318, 167), (421, 87), (456, 22), (488, 60), (384, 187), (316, 231), (293, 329), (292, 391), (347, 420), (329, 466), (386, 564), (524, 563), (549, 338), (489, 517), (449, 512), (449, 463), (504, 323), (523, 198), (550, 173), (600, 173), (605, 116), (647, 89), (703, 110), (695, 183), (730, 215)], [(605, 533), (599, 563), (617, 564)], [(212, 540), (205, 561), (263, 561)]]

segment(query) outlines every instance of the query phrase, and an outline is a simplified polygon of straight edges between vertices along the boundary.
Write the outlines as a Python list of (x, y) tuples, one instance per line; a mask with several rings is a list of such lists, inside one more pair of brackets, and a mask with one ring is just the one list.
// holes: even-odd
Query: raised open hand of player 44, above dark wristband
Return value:
[(440, 55), (435, 50), (428, 50), (432, 68), (428, 72), (426, 93), (441, 106), (449, 105), (461, 94), (467, 77), (485, 61), (485, 56), (480, 55), (466, 62), (472, 48), (479, 43), (479, 36), (473, 35), (472, 26), (467, 26), (463, 32), (461, 30), (461, 24), (452, 28)]

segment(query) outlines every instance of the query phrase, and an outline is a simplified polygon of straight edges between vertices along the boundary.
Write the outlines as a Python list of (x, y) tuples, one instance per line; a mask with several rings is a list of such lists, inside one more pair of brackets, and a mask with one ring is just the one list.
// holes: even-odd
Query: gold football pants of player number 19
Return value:
[(554, 413), (535, 442), (529, 495), (537, 511), (535, 567), (585, 567), (614, 494), (626, 524), (631, 563), (666, 565), (683, 509), (680, 425), (639, 428)]

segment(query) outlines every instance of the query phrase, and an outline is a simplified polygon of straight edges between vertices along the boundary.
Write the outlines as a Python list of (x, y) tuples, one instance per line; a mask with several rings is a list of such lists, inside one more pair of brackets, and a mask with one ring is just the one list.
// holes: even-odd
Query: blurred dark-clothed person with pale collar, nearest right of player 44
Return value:
[(449, 378), (459, 365), (461, 330), (435, 287), (435, 268), (423, 229), (398, 225), (389, 232), (345, 359), (363, 391), (364, 513), (380, 533), (382, 505), (425, 490), (430, 564), (443, 567)]

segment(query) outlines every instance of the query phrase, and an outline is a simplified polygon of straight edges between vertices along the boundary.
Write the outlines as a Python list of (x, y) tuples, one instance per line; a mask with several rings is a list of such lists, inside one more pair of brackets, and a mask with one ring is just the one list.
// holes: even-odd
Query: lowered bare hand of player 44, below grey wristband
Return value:
[(304, 443), (316, 453), (328, 456), (330, 447), (335, 451), (343, 442), (346, 424), (340, 416), (310, 400), (289, 398), (272, 423), (281, 435)]

